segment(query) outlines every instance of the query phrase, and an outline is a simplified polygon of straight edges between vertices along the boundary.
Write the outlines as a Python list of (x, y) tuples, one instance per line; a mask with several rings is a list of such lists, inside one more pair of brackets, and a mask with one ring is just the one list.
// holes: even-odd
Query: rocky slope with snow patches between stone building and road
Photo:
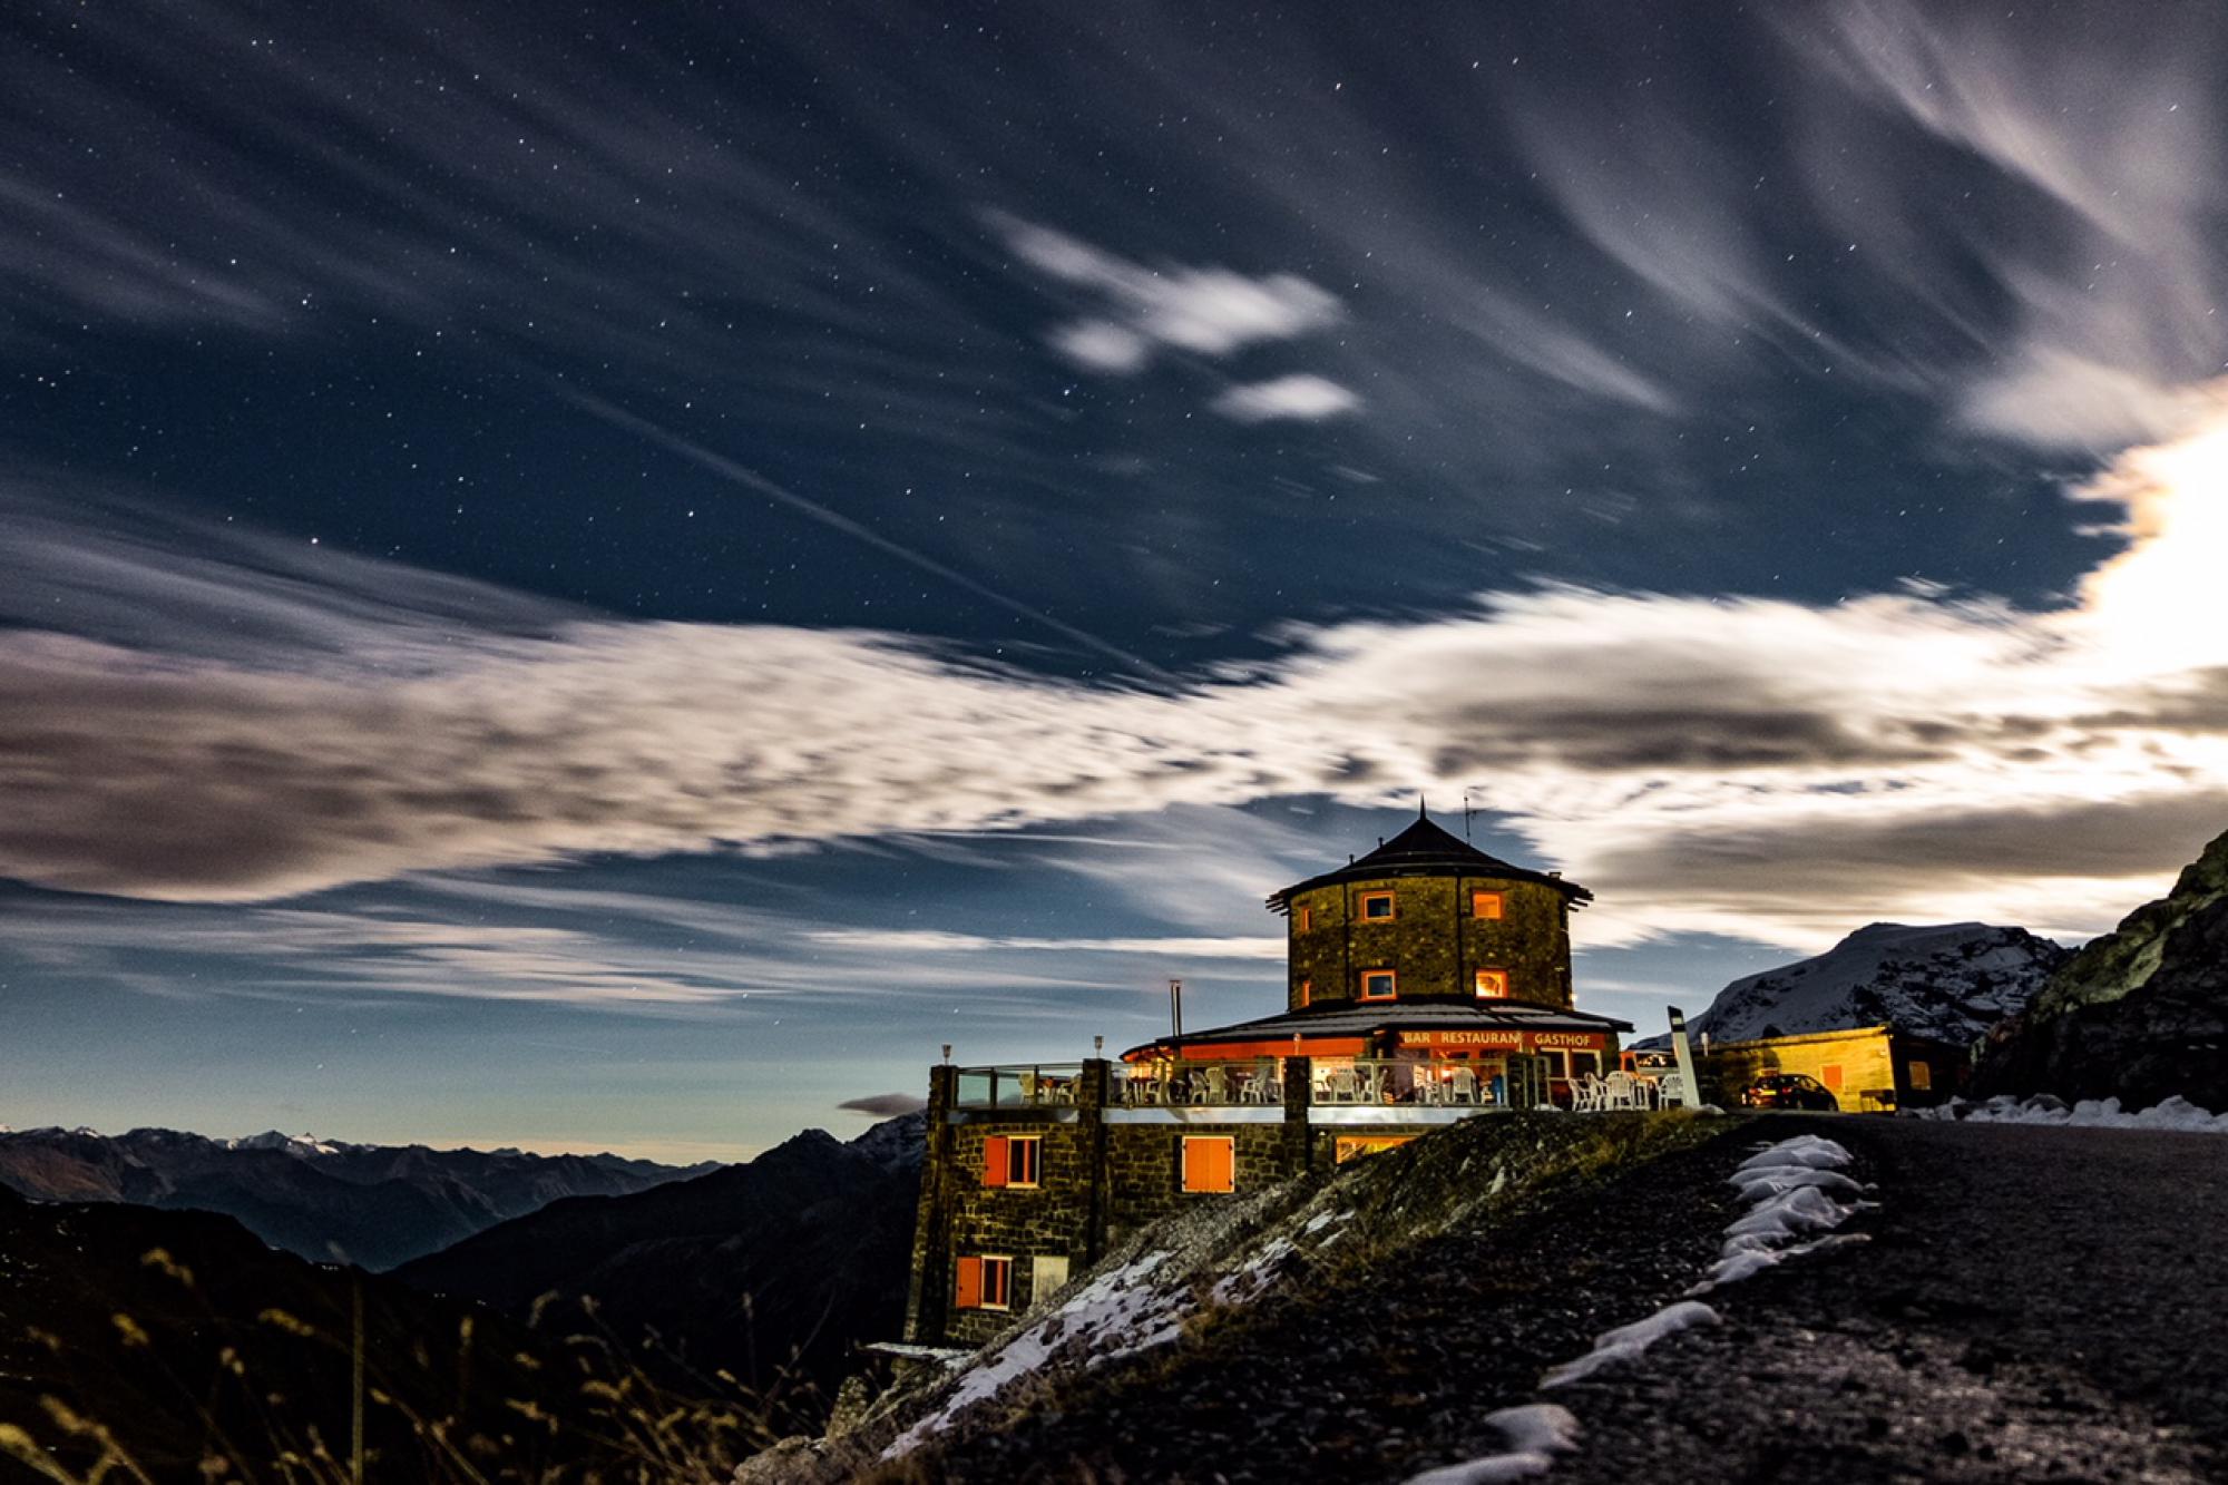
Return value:
[(1152, 1224), (958, 1369), (916, 1365), (737, 1485), (1406, 1481), (1491, 1452), (1495, 1407), (1718, 1255), (1740, 1128), (1468, 1119)]

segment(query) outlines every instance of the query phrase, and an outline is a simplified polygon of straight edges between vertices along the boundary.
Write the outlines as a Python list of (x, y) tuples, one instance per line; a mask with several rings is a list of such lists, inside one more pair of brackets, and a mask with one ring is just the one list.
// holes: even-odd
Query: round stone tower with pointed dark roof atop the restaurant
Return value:
[(1421, 812), (1368, 856), (1268, 899), (1294, 1012), (1395, 1001), (1571, 1008), (1571, 912), (1593, 894), (1457, 841)]

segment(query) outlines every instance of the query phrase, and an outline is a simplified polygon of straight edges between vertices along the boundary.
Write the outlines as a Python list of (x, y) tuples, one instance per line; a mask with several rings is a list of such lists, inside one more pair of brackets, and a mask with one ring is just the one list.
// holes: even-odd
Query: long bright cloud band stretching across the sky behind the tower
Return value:
[[(1292, 629), (1266, 660), (1165, 687), (871, 631), (446, 620), (434, 647), (414, 604), (381, 613), (356, 580), (292, 624), (316, 635), (292, 662), (270, 633), (227, 653), (214, 624), (180, 653), (152, 627), (136, 644), (18, 627), (0, 631), (0, 872), (261, 901), (593, 852), (1473, 787), (1551, 861), (1611, 872), (1595, 943), (1702, 923), (1814, 943), (1827, 921), (1936, 916), (1990, 872), (2003, 892), (2059, 883), (2059, 928), (2097, 923), (2143, 863), (2177, 865), (2186, 843), (2159, 812), (2228, 785), (2208, 700), (2228, 667), (2228, 397), (2210, 397), (2201, 433), (2130, 450), (2081, 491), (2126, 511), (2128, 546), (2059, 611), (1929, 591), (1811, 606), (1537, 589), (1437, 620)], [(51, 582), (18, 562), (33, 580), (0, 584), (0, 618), (38, 622), (9, 595)], [(187, 589), (147, 562), (116, 569), (118, 591), (147, 613), (176, 591), (314, 611), (292, 571), (223, 553), (178, 566)], [(397, 582), (419, 591), (405, 569)], [(1952, 865), (1958, 832), (1929, 827), (1943, 818), (2085, 825), (2054, 863), (1976, 825)], [(1898, 867), (1883, 838), (1925, 850)], [(1782, 890), (1758, 892), (1776, 856)], [(504, 952), (530, 977), (546, 945)]]

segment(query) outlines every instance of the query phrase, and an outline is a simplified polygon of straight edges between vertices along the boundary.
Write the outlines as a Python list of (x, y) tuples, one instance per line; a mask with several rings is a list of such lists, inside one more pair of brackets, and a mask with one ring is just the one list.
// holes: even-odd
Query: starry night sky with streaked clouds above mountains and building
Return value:
[(2228, 11), (0, 13), (0, 1122), (740, 1157), (2228, 829)]

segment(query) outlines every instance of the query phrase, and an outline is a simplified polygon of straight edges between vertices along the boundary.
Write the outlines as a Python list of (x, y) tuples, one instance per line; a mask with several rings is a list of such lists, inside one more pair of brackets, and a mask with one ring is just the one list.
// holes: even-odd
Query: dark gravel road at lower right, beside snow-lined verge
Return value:
[(1878, 1182), (1872, 1242), (1562, 1389), (1555, 1481), (2228, 1481), (2228, 1139), (1771, 1117)]

